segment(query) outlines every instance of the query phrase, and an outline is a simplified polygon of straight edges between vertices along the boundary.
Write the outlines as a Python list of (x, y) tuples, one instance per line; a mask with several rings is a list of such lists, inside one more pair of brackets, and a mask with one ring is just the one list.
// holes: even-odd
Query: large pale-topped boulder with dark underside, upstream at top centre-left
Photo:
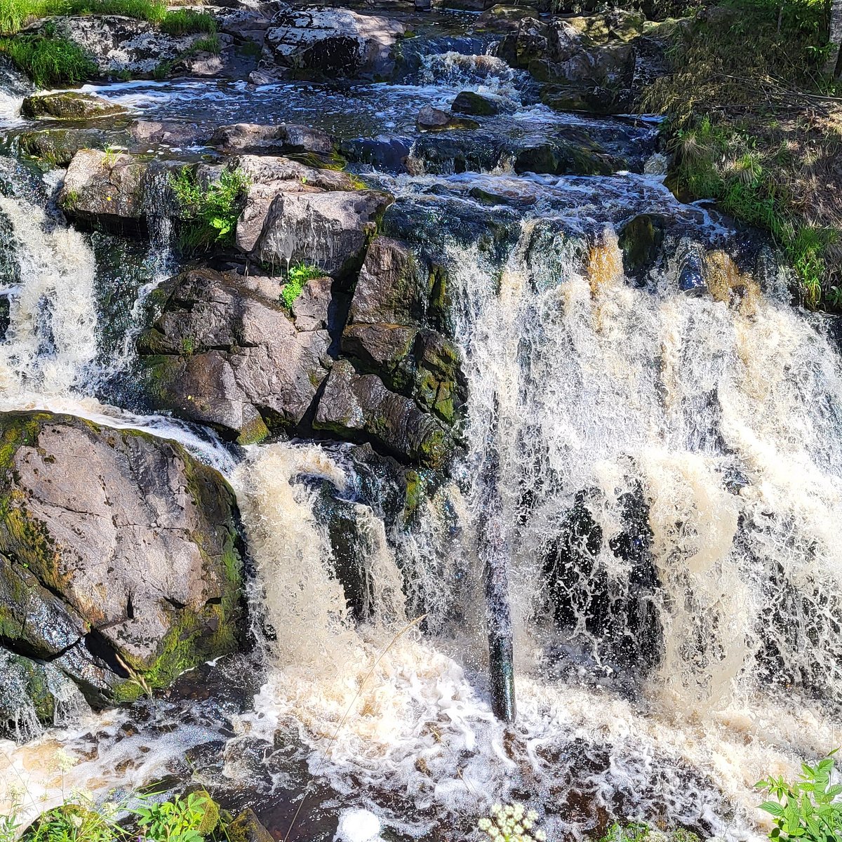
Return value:
[(386, 76), (405, 28), (396, 20), (349, 8), (282, 11), (266, 33), (275, 61), (301, 78)]

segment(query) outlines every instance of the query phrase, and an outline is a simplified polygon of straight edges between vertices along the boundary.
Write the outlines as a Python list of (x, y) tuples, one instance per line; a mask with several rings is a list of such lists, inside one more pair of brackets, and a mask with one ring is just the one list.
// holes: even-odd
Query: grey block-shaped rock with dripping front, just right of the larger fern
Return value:
[(271, 266), (306, 262), (334, 277), (347, 275), (359, 269), (377, 222), (392, 201), (391, 195), (375, 190), (280, 193), (251, 253)]

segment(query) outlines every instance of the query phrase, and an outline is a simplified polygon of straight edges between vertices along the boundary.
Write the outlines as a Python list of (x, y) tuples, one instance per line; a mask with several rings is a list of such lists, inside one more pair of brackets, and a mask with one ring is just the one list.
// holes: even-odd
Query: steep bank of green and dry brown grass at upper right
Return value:
[(823, 75), (828, 6), (729, 0), (662, 25), (670, 72), (642, 109), (667, 117), (679, 193), (769, 231), (802, 301), (842, 306), (842, 101)]

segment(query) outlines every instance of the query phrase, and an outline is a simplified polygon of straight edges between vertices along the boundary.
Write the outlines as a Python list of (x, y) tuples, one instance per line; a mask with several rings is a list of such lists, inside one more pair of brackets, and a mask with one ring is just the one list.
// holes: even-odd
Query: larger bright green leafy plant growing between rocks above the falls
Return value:
[(218, 181), (200, 185), (195, 170), (183, 167), (169, 184), (184, 217), (181, 242), (190, 250), (232, 242), (242, 200), (251, 179), (241, 169), (223, 169)]

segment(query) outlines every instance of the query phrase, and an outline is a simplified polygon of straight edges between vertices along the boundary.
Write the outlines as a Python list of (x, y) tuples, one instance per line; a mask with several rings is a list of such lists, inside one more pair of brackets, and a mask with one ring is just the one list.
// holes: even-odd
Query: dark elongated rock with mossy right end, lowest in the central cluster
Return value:
[(348, 360), (331, 369), (313, 427), (368, 440), (404, 460), (436, 467), (449, 450), (445, 426), (408, 397), (390, 392), (380, 377), (359, 375)]

